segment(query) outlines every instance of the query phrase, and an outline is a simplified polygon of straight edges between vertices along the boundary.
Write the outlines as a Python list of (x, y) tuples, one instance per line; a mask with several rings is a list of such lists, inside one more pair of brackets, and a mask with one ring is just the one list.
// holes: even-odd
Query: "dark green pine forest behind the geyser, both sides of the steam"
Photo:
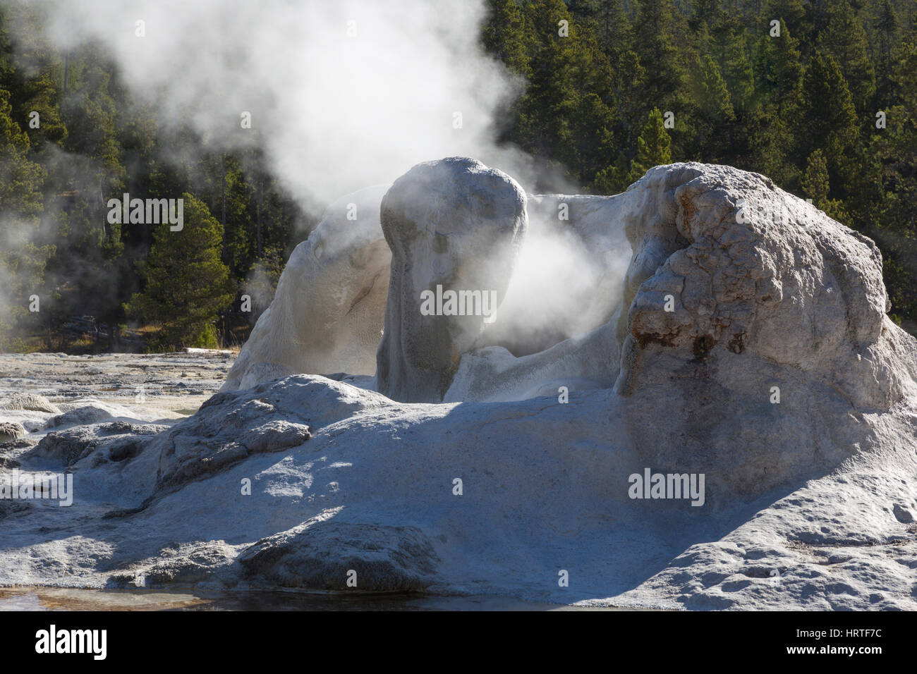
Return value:
[[(484, 2), (481, 48), (525, 85), (495, 130), (543, 169), (527, 189), (558, 189), (559, 175), (617, 193), (672, 160), (759, 171), (878, 241), (892, 316), (917, 332), (917, 0)], [(303, 236), (258, 145), (215, 152), (160, 128), (105, 52), (62, 53), (28, 3), (0, 0), (0, 348), (16, 326), (50, 333), (70, 315), (114, 333), (125, 304), (162, 323), (160, 348), (244, 338)], [(186, 193), (206, 260), (181, 249), (191, 230), (108, 222), (124, 192)], [(176, 304), (187, 319), (167, 315), (172, 255), (201, 275), (204, 295)]]

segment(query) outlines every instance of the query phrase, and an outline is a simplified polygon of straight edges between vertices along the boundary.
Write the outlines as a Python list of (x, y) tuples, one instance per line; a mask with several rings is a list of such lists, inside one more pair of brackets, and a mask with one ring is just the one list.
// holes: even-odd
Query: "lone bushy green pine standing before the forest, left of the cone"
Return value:
[(215, 348), (217, 315), (233, 301), (229, 270), (220, 260), (223, 232), (207, 207), (182, 194), (183, 227), (160, 225), (142, 270), (146, 288), (125, 307), (160, 324), (157, 345)]

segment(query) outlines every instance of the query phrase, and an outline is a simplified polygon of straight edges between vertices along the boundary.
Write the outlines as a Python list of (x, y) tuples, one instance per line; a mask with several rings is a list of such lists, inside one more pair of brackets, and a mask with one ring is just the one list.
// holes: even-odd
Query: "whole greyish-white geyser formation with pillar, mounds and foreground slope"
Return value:
[[(426, 315), (437, 285), (496, 319)], [(74, 478), (0, 499), (0, 585), (917, 610), (888, 309), (875, 244), (756, 173), (526, 197), (428, 162), (329, 207), (196, 414), (0, 400), (0, 495)]]

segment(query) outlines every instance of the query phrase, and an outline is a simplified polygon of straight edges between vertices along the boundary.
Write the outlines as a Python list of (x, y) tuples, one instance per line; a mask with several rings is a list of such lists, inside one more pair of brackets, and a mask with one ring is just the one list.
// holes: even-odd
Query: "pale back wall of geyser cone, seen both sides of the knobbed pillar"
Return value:
[[(370, 188), (339, 200), (293, 251), (271, 308), (260, 317), (223, 390), (293, 373), (365, 376), (375, 371), (391, 262), (379, 218), (383, 192)], [(359, 205), (359, 223), (346, 219), (351, 203)], [(609, 320), (630, 260), (621, 204), (610, 196), (528, 196), (525, 246), (500, 320), (487, 324), (482, 346), (501, 346), (515, 356), (534, 354)], [(328, 256), (326, 242), (335, 244), (334, 256)], [(368, 258), (372, 263), (365, 263)], [(343, 295), (336, 282), (325, 281), (336, 278), (343, 281)], [(354, 291), (370, 287), (365, 295)], [(341, 311), (350, 305), (351, 310)], [(316, 326), (325, 326), (323, 339), (337, 345), (334, 353), (316, 341)]]

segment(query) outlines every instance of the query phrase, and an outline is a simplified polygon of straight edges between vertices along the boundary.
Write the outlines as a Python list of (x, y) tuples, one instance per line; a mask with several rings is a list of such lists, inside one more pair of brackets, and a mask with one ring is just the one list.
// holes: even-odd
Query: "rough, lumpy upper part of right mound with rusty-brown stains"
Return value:
[(635, 254), (618, 324), (623, 392), (652, 381), (641, 366), (659, 351), (708, 359), (727, 350), (812, 372), (856, 407), (900, 400), (914, 370), (888, 367), (893, 337), (871, 240), (727, 167), (657, 167), (630, 189), (662, 203), (656, 217), (635, 214), (624, 226)]

